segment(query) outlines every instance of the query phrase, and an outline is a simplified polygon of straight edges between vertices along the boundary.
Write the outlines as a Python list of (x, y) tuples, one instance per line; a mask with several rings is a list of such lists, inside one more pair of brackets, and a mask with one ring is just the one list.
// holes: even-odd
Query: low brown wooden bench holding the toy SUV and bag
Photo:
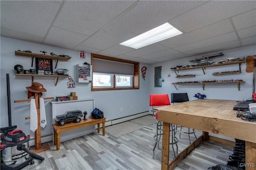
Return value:
[(102, 134), (105, 136), (105, 121), (106, 117), (102, 119), (93, 119), (91, 117), (88, 117), (87, 120), (81, 120), (79, 123), (76, 122), (68, 122), (66, 125), (60, 126), (58, 123), (53, 124), (53, 130), (54, 130), (54, 145), (56, 145), (56, 149), (60, 150), (60, 132), (62, 131), (68, 131), (70, 129), (76, 129), (78, 127), (84, 127), (88, 125), (94, 125), (98, 124), (98, 133), (100, 133), (100, 123), (102, 123)]

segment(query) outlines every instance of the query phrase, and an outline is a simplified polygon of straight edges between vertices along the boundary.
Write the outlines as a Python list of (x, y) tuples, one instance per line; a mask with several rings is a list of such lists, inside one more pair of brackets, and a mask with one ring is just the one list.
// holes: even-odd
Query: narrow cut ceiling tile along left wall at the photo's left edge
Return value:
[(11, 37), (11, 38), (16, 38), (16, 39), (22, 39), (25, 41), (31, 41), (35, 43), (42, 43), (44, 40), (44, 37), (40, 37), (37, 35), (31, 35), (29, 33), (24, 33), (20, 31), (15, 31), (12, 29), (6, 29), (1, 27), (1, 35), (4, 35), (5, 37)]

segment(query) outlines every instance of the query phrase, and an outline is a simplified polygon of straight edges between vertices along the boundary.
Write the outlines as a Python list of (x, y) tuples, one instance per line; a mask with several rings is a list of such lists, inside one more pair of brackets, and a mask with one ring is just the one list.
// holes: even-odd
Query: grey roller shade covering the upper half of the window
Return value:
[(134, 64), (93, 59), (93, 72), (134, 75)]

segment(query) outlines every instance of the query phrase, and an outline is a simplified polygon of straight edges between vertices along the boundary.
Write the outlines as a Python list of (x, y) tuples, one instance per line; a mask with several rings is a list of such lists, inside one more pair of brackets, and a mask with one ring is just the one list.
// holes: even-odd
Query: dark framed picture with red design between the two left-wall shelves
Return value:
[(36, 73), (38, 74), (52, 74), (52, 59), (36, 58)]

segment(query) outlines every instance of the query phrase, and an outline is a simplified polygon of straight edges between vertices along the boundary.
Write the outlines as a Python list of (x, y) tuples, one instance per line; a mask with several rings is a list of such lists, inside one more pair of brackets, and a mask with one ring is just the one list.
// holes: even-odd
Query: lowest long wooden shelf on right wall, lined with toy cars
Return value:
[(240, 91), (240, 83), (245, 83), (243, 80), (214, 80), (212, 82), (210, 81), (193, 81), (193, 82), (175, 82), (172, 83), (176, 90), (178, 90), (178, 85), (179, 84), (202, 84), (202, 88), (204, 90), (204, 85), (205, 84), (218, 84), (218, 83), (237, 83), (238, 86), (238, 91)]

